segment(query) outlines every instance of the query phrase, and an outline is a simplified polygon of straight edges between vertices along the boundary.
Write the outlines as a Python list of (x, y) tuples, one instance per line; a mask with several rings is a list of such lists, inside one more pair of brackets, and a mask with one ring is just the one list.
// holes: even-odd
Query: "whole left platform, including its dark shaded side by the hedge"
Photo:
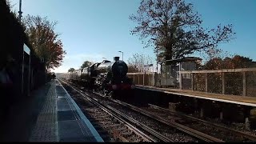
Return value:
[(58, 80), (10, 108), (0, 142), (103, 142)]

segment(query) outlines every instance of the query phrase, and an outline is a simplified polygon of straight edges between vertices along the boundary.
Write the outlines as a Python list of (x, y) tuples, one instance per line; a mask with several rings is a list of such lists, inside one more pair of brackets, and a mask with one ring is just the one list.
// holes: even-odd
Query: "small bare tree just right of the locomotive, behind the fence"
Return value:
[(150, 56), (144, 54), (133, 54), (132, 58), (128, 58), (128, 72), (149, 72), (150, 64), (152, 64)]

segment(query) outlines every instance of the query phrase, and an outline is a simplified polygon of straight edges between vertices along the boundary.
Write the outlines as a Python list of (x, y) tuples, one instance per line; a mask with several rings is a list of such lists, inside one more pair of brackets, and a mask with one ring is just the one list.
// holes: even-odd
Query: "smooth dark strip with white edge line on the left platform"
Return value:
[(63, 86), (56, 82), (58, 109), (58, 139), (59, 142), (103, 142), (94, 126), (82, 113), (82, 110), (66, 92)]

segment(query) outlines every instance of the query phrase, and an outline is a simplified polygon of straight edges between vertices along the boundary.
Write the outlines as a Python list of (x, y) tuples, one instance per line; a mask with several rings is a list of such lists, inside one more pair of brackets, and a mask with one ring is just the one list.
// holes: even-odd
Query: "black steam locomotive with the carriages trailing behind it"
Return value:
[(114, 62), (108, 60), (96, 62), (82, 70), (62, 74), (60, 78), (114, 97), (134, 89), (131, 78), (126, 75), (127, 72), (126, 62), (119, 60), (119, 57), (114, 57)]

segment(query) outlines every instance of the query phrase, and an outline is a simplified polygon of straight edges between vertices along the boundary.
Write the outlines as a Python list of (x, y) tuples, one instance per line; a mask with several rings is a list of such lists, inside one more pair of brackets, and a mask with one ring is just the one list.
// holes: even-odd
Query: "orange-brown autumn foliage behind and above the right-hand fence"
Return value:
[[(204, 65), (205, 70), (240, 69), (255, 67), (252, 59), (240, 55), (226, 58), (212, 58)], [(225, 94), (242, 95), (242, 73), (225, 73)], [(254, 72), (246, 72), (246, 93), (254, 94)], [(205, 74), (194, 74), (194, 89), (205, 91)], [(209, 73), (207, 75), (208, 92), (222, 94), (222, 73)]]

